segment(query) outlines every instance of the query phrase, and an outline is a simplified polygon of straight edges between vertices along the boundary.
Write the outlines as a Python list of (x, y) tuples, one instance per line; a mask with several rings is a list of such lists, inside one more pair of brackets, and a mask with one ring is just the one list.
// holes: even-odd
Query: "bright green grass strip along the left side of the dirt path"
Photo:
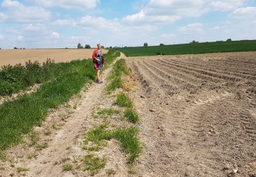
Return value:
[[(109, 62), (118, 54), (112, 51), (106, 54), (106, 65), (110, 65)], [(71, 61), (61, 65), (65, 66), (66, 72), (42, 84), (36, 93), (0, 106), (0, 150), (20, 142), (23, 134), (29, 133), (35, 125), (42, 125), (49, 110), (67, 102), (81, 91), (85, 83), (93, 82), (96, 77), (91, 60)]]

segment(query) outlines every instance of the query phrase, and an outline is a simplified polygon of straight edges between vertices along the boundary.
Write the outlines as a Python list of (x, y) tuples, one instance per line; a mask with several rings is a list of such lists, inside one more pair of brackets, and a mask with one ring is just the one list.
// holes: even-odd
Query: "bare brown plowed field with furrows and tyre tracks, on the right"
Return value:
[(256, 175), (256, 52), (130, 57), (145, 176)]

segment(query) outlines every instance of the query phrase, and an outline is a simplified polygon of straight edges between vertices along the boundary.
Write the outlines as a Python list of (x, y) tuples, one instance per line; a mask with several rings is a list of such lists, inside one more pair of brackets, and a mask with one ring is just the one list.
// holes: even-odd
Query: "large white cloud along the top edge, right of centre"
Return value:
[(174, 22), (199, 17), (211, 11), (230, 11), (242, 7), (246, 0), (150, 0), (139, 12), (123, 18), (126, 22)]

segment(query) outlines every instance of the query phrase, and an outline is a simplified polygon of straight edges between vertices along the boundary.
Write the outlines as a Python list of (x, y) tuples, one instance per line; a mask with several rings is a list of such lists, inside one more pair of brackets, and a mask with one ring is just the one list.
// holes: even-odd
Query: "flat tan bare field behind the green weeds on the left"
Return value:
[[(45, 62), (52, 59), (56, 63), (76, 59), (91, 59), (94, 49), (10, 49), (0, 50), (0, 67), (3, 65), (24, 64), (26, 61)], [(103, 50), (105, 53), (107, 50)]]

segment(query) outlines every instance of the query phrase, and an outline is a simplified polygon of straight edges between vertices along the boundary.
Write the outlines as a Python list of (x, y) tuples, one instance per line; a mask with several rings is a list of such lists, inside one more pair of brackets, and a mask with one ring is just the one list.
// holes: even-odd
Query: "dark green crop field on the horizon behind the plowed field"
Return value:
[(256, 40), (233, 42), (203, 42), (197, 44), (175, 44), (165, 46), (117, 48), (127, 57), (152, 56), (158, 54), (203, 54), (214, 52), (256, 51)]

